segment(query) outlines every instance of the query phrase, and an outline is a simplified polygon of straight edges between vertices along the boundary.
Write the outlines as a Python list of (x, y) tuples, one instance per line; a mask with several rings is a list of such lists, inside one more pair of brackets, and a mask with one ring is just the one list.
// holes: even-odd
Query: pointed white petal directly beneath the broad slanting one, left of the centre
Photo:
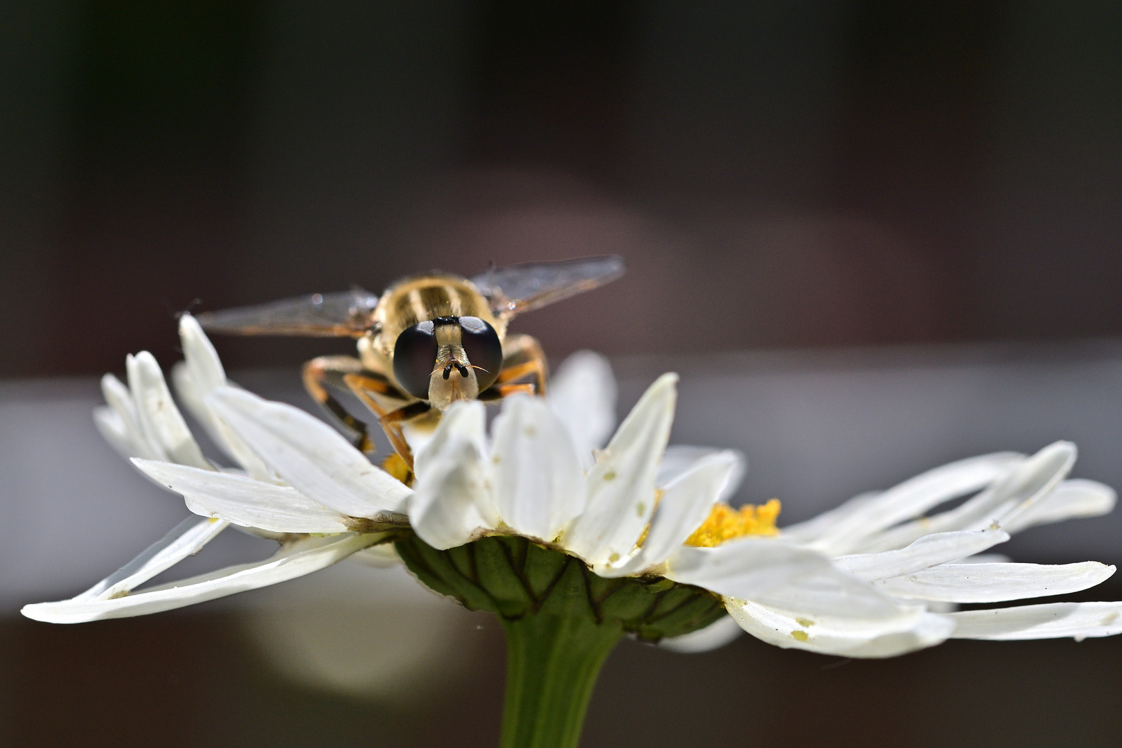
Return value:
[(160, 486), (181, 495), (196, 515), (220, 517), (234, 525), (275, 533), (346, 533), (351, 529), (341, 514), (312, 501), (289, 486), (171, 462), (134, 459), (132, 464)]

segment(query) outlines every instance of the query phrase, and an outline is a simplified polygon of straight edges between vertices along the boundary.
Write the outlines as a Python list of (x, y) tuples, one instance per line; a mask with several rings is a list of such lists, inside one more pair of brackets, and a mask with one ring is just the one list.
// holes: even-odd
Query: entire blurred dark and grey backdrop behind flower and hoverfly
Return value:
[[(178, 358), (188, 307), (620, 253), (624, 279), (515, 329), (613, 357), (622, 408), (681, 371), (675, 441), (744, 450), (739, 499), (785, 521), (1055, 438), (1122, 486), (1122, 6), (40, 0), (0, 8), (0, 95), (4, 745), (497, 738), (502, 632), (395, 572), (17, 616), (183, 515), (89, 413), (127, 352)], [(217, 342), (305, 407), (300, 362), (350, 348)], [(268, 553), (234, 535), (199, 563)], [(1003, 551), (1120, 547), (1107, 518)], [(586, 744), (1111, 746), (1120, 666), (1114, 640), (625, 643)]]

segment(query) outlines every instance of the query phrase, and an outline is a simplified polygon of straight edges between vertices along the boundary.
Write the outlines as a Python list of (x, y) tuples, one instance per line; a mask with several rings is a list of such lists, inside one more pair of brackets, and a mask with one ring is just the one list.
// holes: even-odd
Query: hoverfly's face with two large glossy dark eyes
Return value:
[(487, 322), (443, 316), (406, 327), (394, 343), (394, 378), (411, 395), (444, 410), (478, 397), (503, 366), (503, 344)]

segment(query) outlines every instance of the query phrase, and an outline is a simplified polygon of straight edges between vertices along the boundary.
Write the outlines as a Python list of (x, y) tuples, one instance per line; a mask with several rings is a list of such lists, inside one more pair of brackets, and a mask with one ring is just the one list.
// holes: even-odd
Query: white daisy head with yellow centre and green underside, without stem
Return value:
[[(591, 353), (561, 367), (549, 398), (508, 398), (489, 433), (481, 403), (458, 403), (419, 450), (407, 486), (322, 421), (228, 382), (190, 316), (181, 335), (181, 398), (240, 469), (203, 456), (155, 360), (130, 357), (128, 387), (111, 376), (102, 382), (109, 405), (96, 412), (98, 425), (199, 517), (76, 598), (27, 606), (26, 616), (79, 622), (169, 610), (353, 554), (385, 562), (396, 547), (425, 584), (507, 622), (583, 606), (582, 640), (592, 648), (603, 640), (605, 655), (624, 632), (696, 652), (743, 629), (778, 646), (850, 657), (953, 637), (1122, 632), (1118, 602), (945, 612), (951, 603), (1075, 592), (1113, 574), (1096, 562), (971, 558), (1026, 527), (1113, 508), (1110, 488), (1065, 480), (1076, 455), (1066, 442), (1031, 456), (962, 460), (779, 530), (778, 501), (724, 504), (744, 470), (739, 454), (668, 449), (674, 375), (651, 385), (606, 446), (615, 382)], [(228, 524), (275, 537), (280, 550), (137, 590)], [(507, 630), (516, 652), (521, 629)]]

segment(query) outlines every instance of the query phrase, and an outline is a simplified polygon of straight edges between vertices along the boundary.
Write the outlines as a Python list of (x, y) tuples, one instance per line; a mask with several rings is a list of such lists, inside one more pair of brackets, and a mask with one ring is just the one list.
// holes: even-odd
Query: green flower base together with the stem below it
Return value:
[(624, 635), (653, 643), (725, 615), (720, 599), (701, 588), (661, 576), (605, 579), (523, 537), (436, 551), (410, 535), (395, 547), (426, 585), (503, 622), (504, 748), (576, 746), (600, 666)]

